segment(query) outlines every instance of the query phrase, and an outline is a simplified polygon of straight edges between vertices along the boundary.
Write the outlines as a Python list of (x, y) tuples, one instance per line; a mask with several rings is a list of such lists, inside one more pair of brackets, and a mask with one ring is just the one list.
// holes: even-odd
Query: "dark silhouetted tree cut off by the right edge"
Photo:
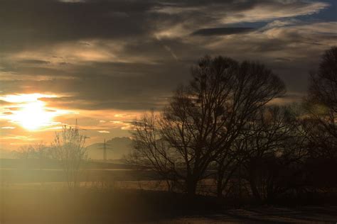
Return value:
[(308, 185), (331, 188), (337, 185), (337, 47), (323, 54), (317, 72), (311, 74), (306, 115), (301, 125), (306, 133), (309, 158), (306, 160)]

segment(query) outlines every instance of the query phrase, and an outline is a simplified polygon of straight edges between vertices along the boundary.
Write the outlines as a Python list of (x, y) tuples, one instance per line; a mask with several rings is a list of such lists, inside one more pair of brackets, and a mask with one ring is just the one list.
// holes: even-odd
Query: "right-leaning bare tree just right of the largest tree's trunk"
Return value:
[(240, 151), (233, 142), (255, 113), (272, 99), (285, 94), (284, 83), (271, 70), (256, 62), (242, 62), (234, 74), (230, 94), (220, 104), (225, 113), (213, 129), (210, 148), (217, 165), (217, 194), (222, 196), (230, 176), (240, 164)]

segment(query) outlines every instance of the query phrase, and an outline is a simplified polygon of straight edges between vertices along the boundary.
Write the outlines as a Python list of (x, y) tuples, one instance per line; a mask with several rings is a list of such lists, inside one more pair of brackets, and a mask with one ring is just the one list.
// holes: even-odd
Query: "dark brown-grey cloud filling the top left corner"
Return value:
[(6, 30), (1, 32), (0, 49), (19, 50), (50, 42), (144, 35), (150, 30), (144, 13), (156, 4), (146, 1), (4, 0), (0, 5), (0, 27)]

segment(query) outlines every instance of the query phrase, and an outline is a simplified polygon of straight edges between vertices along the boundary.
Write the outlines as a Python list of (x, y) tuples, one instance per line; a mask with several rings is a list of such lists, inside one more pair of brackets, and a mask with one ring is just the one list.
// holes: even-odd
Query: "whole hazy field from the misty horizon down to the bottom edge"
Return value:
[[(18, 164), (20, 164), (18, 166)], [(92, 162), (70, 192), (57, 164), (1, 162), (2, 223), (336, 223), (337, 206), (250, 206), (163, 191), (151, 172)]]

